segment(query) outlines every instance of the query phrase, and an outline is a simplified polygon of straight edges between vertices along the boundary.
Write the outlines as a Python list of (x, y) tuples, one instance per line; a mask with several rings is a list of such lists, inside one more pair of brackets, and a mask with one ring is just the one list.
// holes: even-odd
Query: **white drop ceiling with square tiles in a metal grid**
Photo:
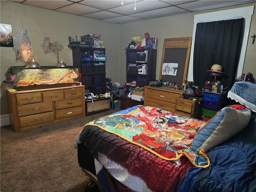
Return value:
[[(10, 0), (104, 22), (124, 24), (256, 2), (256, 0)], [(123, 4), (123, 5), (122, 5)]]

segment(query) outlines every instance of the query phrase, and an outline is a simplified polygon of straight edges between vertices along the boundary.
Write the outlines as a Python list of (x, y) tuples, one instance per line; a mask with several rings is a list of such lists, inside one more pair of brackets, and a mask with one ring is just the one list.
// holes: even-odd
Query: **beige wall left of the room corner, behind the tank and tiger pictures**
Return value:
[[(0, 1), (0, 23), (11, 24), (12, 33), (18, 29), (27, 29), (32, 44), (32, 56), (41, 66), (57, 66), (55, 54), (44, 54), (41, 44), (44, 37), (50, 37), (50, 42), (56, 40), (64, 46), (60, 52), (60, 59), (72, 66), (72, 50), (68, 48), (68, 36), (83, 36), (86, 34), (100, 34), (106, 48), (108, 61), (106, 62), (106, 77), (119, 81), (120, 75), (120, 25), (102, 22), (72, 14), (37, 8), (9, 1)], [(23, 62), (15, 61), (12, 48), (0, 48), (0, 80), (1, 80), (1, 112), (7, 114), (7, 103), (4, 80), (8, 78), (10, 66), (24, 66)], [(114, 69), (114, 70), (112, 70)]]

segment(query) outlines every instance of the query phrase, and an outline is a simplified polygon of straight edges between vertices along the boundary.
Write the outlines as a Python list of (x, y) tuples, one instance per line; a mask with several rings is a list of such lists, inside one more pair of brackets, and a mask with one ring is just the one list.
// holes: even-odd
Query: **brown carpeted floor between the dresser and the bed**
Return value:
[(90, 178), (78, 165), (73, 143), (87, 122), (107, 112), (15, 133), (1, 131), (1, 192), (84, 192)]

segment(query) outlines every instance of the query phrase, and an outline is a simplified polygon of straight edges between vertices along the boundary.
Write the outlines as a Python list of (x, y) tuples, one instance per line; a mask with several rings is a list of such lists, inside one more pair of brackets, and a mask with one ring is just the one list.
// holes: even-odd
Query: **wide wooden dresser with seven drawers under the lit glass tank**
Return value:
[(14, 132), (85, 116), (84, 86), (7, 90)]

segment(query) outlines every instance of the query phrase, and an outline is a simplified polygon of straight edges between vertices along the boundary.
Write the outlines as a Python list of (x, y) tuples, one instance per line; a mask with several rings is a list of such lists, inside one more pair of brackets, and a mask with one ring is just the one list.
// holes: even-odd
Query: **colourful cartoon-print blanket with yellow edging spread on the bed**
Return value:
[(125, 140), (141, 146), (164, 160), (186, 156), (197, 167), (210, 162), (203, 151), (190, 150), (196, 130), (205, 122), (151, 106), (134, 106), (127, 110), (98, 118), (86, 124), (98, 126)]

